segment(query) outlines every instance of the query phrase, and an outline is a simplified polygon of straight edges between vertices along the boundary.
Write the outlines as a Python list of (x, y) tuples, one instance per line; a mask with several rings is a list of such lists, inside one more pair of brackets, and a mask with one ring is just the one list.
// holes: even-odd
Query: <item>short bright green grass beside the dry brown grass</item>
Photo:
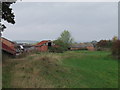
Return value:
[(73, 55), (76, 58), (64, 59), (64, 65), (74, 68), (71, 71), (79, 78), (75, 87), (79, 87), (81, 83), (90, 88), (118, 87), (118, 62), (112, 60), (109, 54), (85, 51), (80, 52), (79, 55)]

